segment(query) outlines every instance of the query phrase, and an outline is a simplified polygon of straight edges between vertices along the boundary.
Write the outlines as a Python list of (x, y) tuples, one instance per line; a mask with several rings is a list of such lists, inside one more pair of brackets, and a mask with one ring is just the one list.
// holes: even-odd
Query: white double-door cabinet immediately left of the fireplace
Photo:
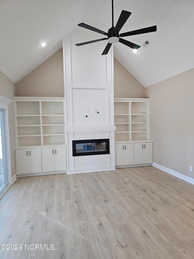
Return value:
[(42, 148), (42, 171), (66, 170), (66, 148)]

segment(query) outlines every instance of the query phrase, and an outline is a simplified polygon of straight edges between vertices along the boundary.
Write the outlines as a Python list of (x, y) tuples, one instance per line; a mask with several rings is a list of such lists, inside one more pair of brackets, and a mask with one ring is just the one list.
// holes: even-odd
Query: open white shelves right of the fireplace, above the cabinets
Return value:
[(115, 98), (115, 142), (149, 140), (149, 98)]

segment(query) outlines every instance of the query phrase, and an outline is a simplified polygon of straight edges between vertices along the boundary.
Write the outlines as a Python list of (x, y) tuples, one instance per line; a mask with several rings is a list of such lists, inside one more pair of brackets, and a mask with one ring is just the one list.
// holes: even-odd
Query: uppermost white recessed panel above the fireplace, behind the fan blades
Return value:
[(72, 85), (74, 86), (106, 86), (106, 56), (101, 54), (108, 41), (83, 46), (75, 45), (98, 39), (96, 34), (96, 32), (79, 28), (71, 35)]

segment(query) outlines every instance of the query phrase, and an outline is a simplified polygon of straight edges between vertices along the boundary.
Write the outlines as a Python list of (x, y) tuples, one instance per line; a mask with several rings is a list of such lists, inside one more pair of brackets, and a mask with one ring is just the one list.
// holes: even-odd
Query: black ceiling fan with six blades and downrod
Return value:
[(101, 33), (101, 34), (107, 36), (107, 38), (91, 40), (91, 41), (87, 41), (87, 42), (78, 43), (78, 44), (75, 44), (75, 45), (76, 46), (82, 46), (82, 45), (85, 45), (85, 44), (94, 43), (94, 42), (97, 42), (97, 41), (108, 39), (108, 44), (106, 45), (104, 51), (102, 52), (102, 55), (108, 54), (112, 43), (116, 43), (118, 41), (120, 43), (132, 48), (132, 49), (139, 49), (141, 46), (139, 46), (135, 43), (132, 43), (128, 40), (122, 39), (122, 37), (137, 35), (137, 34), (142, 34), (142, 33), (148, 33), (148, 32), (156, 32), (156, 25), (151, 26), (151, 27), (147, 27), (147, 28), (143, 28), (143, 29), (139, 29), (139, 30), (135, 30), (135, 31), (131, 31), (131, 32), (124, 32), (124, 33), (121, 33), (119, 35), (119, 32), (122, 29), (122, 26), (125, 24), (125, 22), (127, 21), (127, 19), (129, 18), (130, 15), (131, 15), (131, 12), (122, 10), (122, 12), (119, 16), (119, 19), (117, 21), (117, 24), (114, 27), (114, 25), (113, 25), (113, 22), (114, 22), (113, 21), (114, 20), (113, 19), (113, 0), (112, 0), (112, 27), (108, 30), (108, 32), (103, 32), (103, 31), (101, 31), (99, 29), (96, 29), (92, 26), (89, 26), (89, 25), (87, 25), (83, 22), (78, 24), (78, 26), (80, 26), (80, 27), (89, 29), (89, 30), (94, 31), (94, 32)]

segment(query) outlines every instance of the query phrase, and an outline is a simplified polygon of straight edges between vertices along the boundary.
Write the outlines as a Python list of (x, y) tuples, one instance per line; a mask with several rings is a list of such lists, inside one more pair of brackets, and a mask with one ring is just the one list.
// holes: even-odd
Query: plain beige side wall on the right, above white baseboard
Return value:
[[(146, 88), (154, 162), (194, 178), (194, 69)], [(189, 166), (193, 172), (189, 171)]]

